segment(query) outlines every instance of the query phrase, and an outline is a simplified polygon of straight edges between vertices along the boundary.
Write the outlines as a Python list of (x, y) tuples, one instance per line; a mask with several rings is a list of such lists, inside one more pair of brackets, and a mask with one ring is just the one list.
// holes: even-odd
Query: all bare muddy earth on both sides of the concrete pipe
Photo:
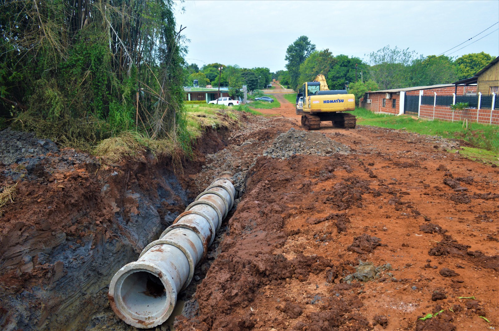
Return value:
[(323, 124), (314, 148), (282, 100), (266, 111), (280, 116), (210, 132), (183, 174), (147, 158), (102, 169), (71, 150), (47, 152), (43, 169), (29, 165), (39, 156), (1, 165), (2, 182), (25, 175), (0, 218), (0, 325), (133, 329), (105, 300), (114, 272), (232, 170), (237, 207), (175, 330), (498, 328), (498, 168), (434, 148), (453, 144), (439, 137), (367, 126)]

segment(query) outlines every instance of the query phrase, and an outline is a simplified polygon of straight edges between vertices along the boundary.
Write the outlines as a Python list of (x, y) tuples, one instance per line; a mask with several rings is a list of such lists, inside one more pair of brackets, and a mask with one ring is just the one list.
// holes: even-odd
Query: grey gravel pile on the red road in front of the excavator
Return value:
[(350, 148), (315, 131), (294, 128), (280, 134), (263, 156), (287, 159), (295, 154), (328, 156), (333, 153), (349, 154)]

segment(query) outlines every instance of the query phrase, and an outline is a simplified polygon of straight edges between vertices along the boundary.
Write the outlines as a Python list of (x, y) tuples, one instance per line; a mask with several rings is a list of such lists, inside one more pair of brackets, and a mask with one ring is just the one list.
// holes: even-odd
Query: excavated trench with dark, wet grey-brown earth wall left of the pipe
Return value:
[[(4, 130), (0, 179), (17, 182), (17, 198), (1, 208), (1, 329), (92, 330), (111, 323), (128, 330), (109, 308), (111, 278), (204, 189), (189, 175), (202, 169), (206, 153), (224, 147), (227, 134), (208, 131), (182, 173), (152, 155), (102, 168), (87, 154)], [(197, 268), (172, 315), (180, 313), (209, 264)], [(143, 286), (151, 296), (161, 290), (154, 279)]]

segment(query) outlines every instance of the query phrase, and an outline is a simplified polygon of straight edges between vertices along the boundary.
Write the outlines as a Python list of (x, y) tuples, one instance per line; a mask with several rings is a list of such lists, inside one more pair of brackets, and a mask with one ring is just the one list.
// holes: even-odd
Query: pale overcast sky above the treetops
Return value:
[[(177, 2), (176, 19), (187, 26), (184, 34), (191, 39), (188, 63), (274, 72), (285, 69), (286, 48), (300, 35), (333, 55), (366, 59), (364, 54), (386, 45), (439, 55), (498, 22), (499, 1), (186, 0)], [(498, 28), (492, 26), (446, 55), (484, 51), (498, 56)]]

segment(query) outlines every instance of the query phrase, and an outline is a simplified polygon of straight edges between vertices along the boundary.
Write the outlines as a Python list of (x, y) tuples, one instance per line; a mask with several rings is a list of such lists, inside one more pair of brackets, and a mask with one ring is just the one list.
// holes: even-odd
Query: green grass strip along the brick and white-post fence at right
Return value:
[(498, 126), (471, 123), (471, 126), (468, 126), (469, 130), (465, 130), (463, 122), (414, 120), (407, 115), (374, 114), (364, 108), (357, 108), (351, 113), (358, 117), (358, 124), (389, 129), (405, 129), (423, 135), (462, 139), (476, 147), (476, 149), (491, 151), (496, 155), (499, 153)]

